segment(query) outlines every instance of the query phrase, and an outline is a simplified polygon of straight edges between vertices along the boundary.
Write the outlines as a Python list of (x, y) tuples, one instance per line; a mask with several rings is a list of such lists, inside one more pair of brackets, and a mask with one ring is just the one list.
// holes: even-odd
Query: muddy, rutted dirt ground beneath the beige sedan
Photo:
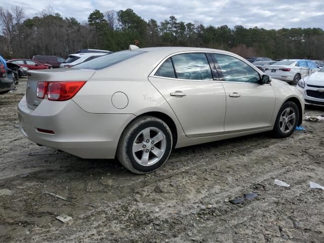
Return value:
[[(0, 95), (0, 242), (324, 242), (324, 191), (309, 188), (324, 185), (323, 122), (287, 139), (177, 149), (156, 173), (134, 175), (27, 140), (16, 108), (25, 85)], [(228, 202), (248, 192), (258, 197)]]

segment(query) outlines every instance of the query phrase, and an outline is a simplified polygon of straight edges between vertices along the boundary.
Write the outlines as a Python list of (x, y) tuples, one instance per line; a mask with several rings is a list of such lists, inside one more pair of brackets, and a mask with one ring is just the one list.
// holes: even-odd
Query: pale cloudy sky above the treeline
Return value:
[(104, 12), (131, 8), (145, 20), (158, 22), (174, 15), (178, 21), (200, 21), (205, 25), (230, 27), (263, 27), (266, 29), (291, 27), (324, 28), (324, 0), (0, 0), (0, 6), (19, 5), (28, 17), (41, 12), (49, 4), (64, 17), (73, 16), (86, 21), (94, 9)]

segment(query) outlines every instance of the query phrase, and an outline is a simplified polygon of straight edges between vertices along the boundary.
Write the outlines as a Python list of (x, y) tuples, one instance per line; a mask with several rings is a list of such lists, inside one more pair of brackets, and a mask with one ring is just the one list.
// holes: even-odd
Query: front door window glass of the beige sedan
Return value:
[(247, 63), (228, 55), (213, 54), (223, 73), (224, 81), (258, 83), (259, 73)]

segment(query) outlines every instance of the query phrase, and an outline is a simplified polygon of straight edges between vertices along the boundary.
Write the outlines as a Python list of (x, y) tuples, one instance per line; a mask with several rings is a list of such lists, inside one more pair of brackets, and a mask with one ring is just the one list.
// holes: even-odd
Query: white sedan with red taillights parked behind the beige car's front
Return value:
[(319, 69), (314, 62), (300, 59), (285, 59), (269, 65), (267, 68), (265, 74), (289, 82), (292, 85), (297, 85), (301, 78)]

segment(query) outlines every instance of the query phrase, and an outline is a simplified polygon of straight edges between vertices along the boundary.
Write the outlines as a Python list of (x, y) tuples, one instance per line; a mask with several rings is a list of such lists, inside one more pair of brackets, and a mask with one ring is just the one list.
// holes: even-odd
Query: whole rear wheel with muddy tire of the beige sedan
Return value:
[(172, 133), (168, 125), (154, 116), (141, 116), (130, 123), (121, 135), (117, 158), (129, 171), (150, 173), (169, 158)]

